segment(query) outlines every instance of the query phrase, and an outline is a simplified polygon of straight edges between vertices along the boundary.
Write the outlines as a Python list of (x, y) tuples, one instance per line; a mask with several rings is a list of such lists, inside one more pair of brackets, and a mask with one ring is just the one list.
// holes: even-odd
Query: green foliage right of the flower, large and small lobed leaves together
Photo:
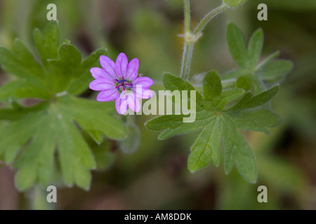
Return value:
[[(268, 104), (279, 91), (279, 85), (265, 89), (261, 83), (262, 80), (268, 80), (265, 77), (287, 73), (289, 66), (282, 64), (284, 60), (270, 62), (275, 55), (257, 66), (263, 48), (261, 29), (253, 34), (248, 48), (242, 33), (231, 23), (228, 25), (227, 37), (232, 57), (241, 68), (223, 77), (234, 78), (235, 87), (223, 89), (218, 73), (209, 71), (203, 79), (203, 96), (197, 92), (196, 120), (193, 123), (183, 123), (185, 115), (181, 114), (159, 116), (145, 125), (150, 130), (162, 131), (158, 139), (168, 139), (202, 129), (191, 147), (187, 164), (190, 172), (206, 167), (211, 160), (217, 167), (220, 163), (220, 148), (223, 148), (225, 173), (229, 174), (235, 165), (246, 181), (255, 183), (258, 176), (256, 158), (240, 130), (268, 134), (268, 127), (279, 125), (279, 116), (270, 110)], [(281, 64), (271, 69), (271, 63)], [(265, 75), (256, 76), (258, 73), (253, 72), (256, 68), (259, 68), (258, 71), (266, 71)], [(164, 73), (162, 81), (167, 90), (195, 90), (188, 81), (171, 73)], [(254, 89), (254, 86), (257, 88)]]

